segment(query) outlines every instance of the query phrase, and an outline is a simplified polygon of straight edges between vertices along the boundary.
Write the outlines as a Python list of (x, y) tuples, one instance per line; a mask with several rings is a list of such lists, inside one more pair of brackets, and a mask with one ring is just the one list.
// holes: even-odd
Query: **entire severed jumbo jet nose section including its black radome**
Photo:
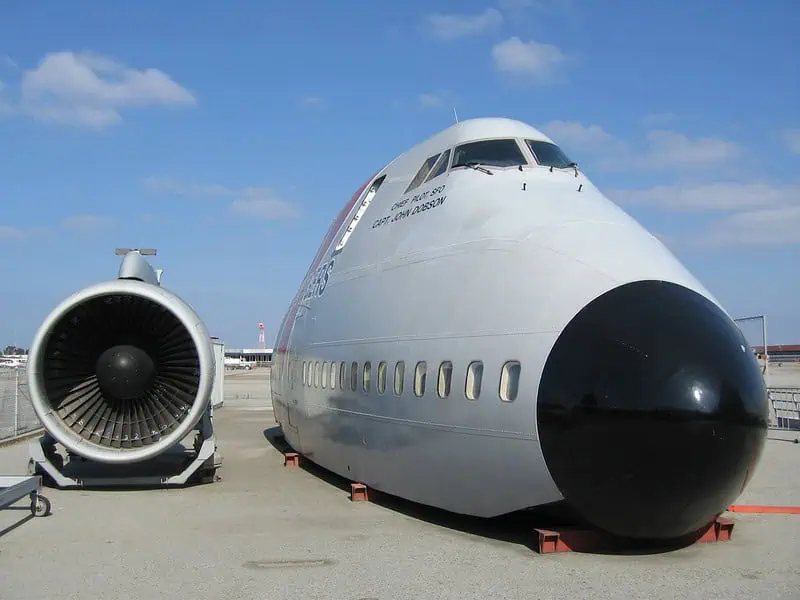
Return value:
[(464, 514), (558, 504), (621, 536), (691, 535), (741, 493), (766, 436), (730, 315), (508, 119), (450, 127), (366, 182), (274, 357), (295, 450)]

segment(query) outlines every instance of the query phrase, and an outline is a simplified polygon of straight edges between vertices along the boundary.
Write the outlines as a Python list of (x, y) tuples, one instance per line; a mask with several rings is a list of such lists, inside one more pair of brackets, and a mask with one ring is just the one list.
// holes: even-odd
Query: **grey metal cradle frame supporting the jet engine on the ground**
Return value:
[[(194, 481), (212, 483), (219, 479), (216, 476), (216, 470), (222, 465), (222, 457), (217, 453), (217, 438), (214, 434), (212, 412), (213, 408), (209, 405), (195, 428), (196, 435), (192, 450), (181, 455), (172, 465), (169, 465), (164, 459), (164, 456), (172, 449), (167, 449), (152, 459), (127, 465), (110, 466), (81, 456), (70, 456), (69, 461), (65, 464), (62, 456), (56, 450), (55, 440), (49, 434), (45, 434), (30, 443), (28, 473), (30, 475), (46, 475), (56, 487), (62, 489), (126, 486), (177, 487)], [(72, 463), (77, 463), (79, 469), (71, 469)], [(78, 470), (88, 471), (87, 476), (70, 472)], [(102, 473), (103, 471), (106, 473)], [(146, 474), (134, 474), (140, 471), (145, 471)], [(147, 473), (147, 471), (153, 474)]]

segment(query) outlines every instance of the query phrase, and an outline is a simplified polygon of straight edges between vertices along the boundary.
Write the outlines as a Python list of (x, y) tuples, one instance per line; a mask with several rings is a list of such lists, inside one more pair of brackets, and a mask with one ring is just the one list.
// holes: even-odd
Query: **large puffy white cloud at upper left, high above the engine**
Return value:
[(43, 121), (101, 129), (125, 108), (188, 106), (192, 93), (154, 68), (132, 69), (92, 53), (53, 52), (22, 75), (20, 109)]

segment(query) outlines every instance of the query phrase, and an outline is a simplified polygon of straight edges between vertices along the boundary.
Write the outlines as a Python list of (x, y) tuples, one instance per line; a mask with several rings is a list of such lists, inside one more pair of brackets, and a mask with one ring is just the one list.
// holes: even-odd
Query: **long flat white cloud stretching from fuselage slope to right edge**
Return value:
[(800, 185), (764, 182), (609, 189), (604, 194), (618, 204), (651, 206), (669, 211), (741, 211), (800, 206)]

